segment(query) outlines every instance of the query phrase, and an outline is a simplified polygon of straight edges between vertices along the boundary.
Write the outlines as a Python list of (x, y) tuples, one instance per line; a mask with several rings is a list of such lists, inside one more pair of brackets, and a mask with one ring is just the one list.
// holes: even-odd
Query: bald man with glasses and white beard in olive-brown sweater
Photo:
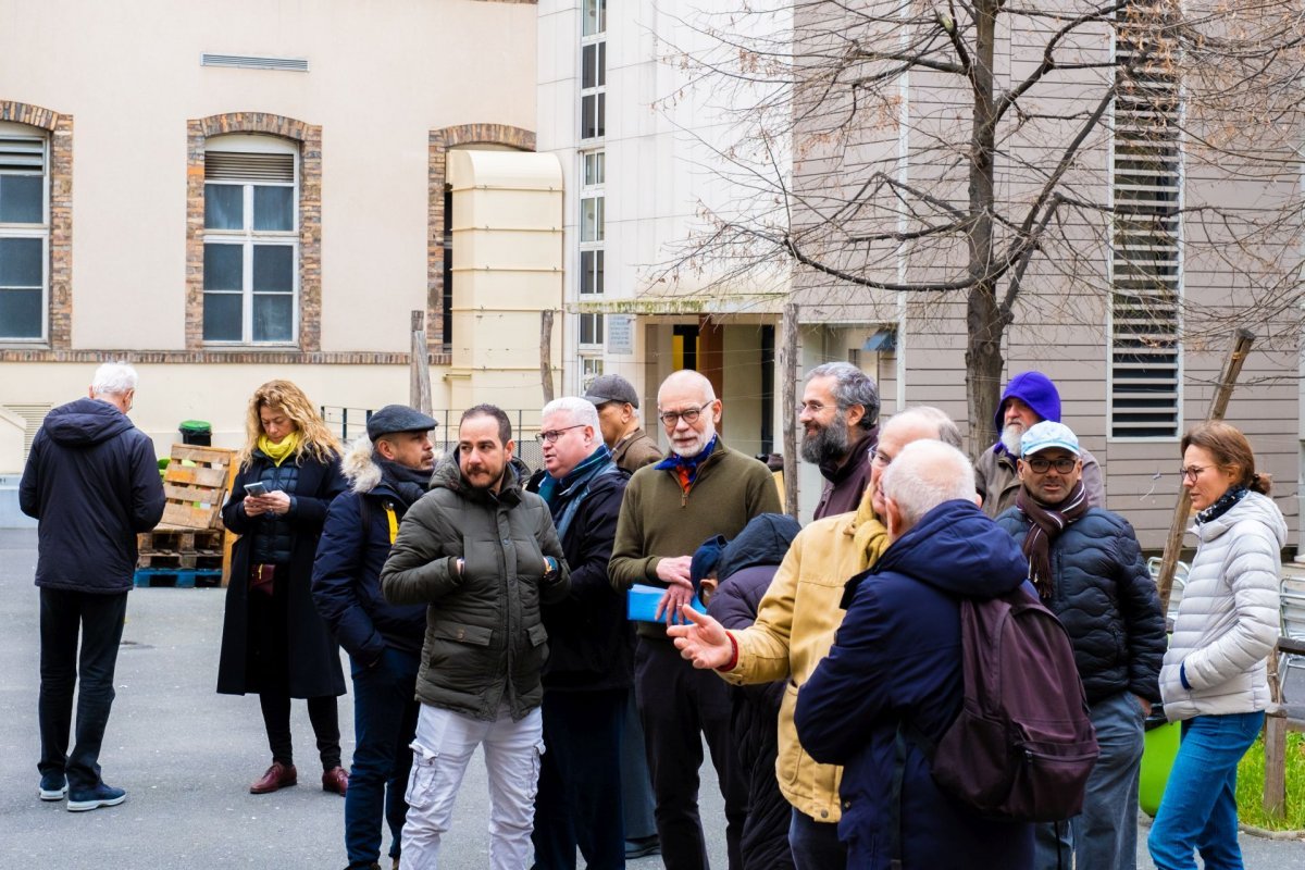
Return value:
[[(666, 590), (658, 616), (668, 623), (693, 599), (690, 554), (707, 537), (732, 539), (753, 517), (778, 514), (779, 492), (762, 463), (731, 450), (716, 434), (720, 399), (693, 370), (671, 374), (658, 390), (658, 419), (671, 453), (634, 472), (616, 526), (608, 566), (612, 583)], [(740, 866), (739, 837), (746, 788), (729, 746), (729, 695), (709, 672), (684, 661), (659, 622), (639, 622), (634, 687), (643, 723), (662, 858), (668, 870), (707, 867), (698, 817), (702, 736), (726, 800), (729, 866)]]

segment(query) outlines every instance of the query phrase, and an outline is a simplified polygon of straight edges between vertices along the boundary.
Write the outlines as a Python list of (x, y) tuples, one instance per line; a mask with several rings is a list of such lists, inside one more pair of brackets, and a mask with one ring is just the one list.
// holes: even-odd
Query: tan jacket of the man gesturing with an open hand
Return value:
[(797, 689), (834, 643), (843, 621), (843, 587), (878, 560), (887, 531), (869, 498), (855, 514), (826, 517), (804, 528), (757, 605), (756, 623), (732, 631), (739, 660), (720, 676), (735, 685), (787, 678), (779, 708), (779, 790), (816, 822), (838, 822), (838, 780), (843, 770), (820, 764), (803, 749), (793, 728)]

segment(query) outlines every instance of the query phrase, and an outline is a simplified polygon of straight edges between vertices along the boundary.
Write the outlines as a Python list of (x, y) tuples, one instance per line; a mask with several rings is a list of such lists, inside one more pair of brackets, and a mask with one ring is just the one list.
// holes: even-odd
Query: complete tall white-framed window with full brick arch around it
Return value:
[(299, 334), (298, 149), (210, 138), (204, 155), (204, 340), (291, 344)]

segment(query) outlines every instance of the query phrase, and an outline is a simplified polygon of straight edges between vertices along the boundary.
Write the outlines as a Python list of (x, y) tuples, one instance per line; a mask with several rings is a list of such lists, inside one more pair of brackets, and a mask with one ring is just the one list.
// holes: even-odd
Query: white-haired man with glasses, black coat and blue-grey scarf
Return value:
[(633, 677), (634, 635), (625, 600), (608, 580), (628, 475), (603, 443), (598, 411), (581, 398), (549, 402), (536, 477), (561, 539), (572, 587), (545, 604), (544, 753), (535, 796), (536, 870), (625, 866), (621, 738)]

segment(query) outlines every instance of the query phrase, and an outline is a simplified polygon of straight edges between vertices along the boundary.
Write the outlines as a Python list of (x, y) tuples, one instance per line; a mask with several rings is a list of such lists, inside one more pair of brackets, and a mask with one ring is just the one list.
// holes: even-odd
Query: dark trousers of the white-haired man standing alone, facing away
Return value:
[[(127, 592), (93, 595), (40, 590), (40, 721), (42, 776), (67, 773), (72, 792), (99, 785), (99, 747), (114, 706), (114, 668), (127, 617)], [(77, 638), (81, 635), (81, 651)], [(77, 691), (77, 743), (68, 754)]]

